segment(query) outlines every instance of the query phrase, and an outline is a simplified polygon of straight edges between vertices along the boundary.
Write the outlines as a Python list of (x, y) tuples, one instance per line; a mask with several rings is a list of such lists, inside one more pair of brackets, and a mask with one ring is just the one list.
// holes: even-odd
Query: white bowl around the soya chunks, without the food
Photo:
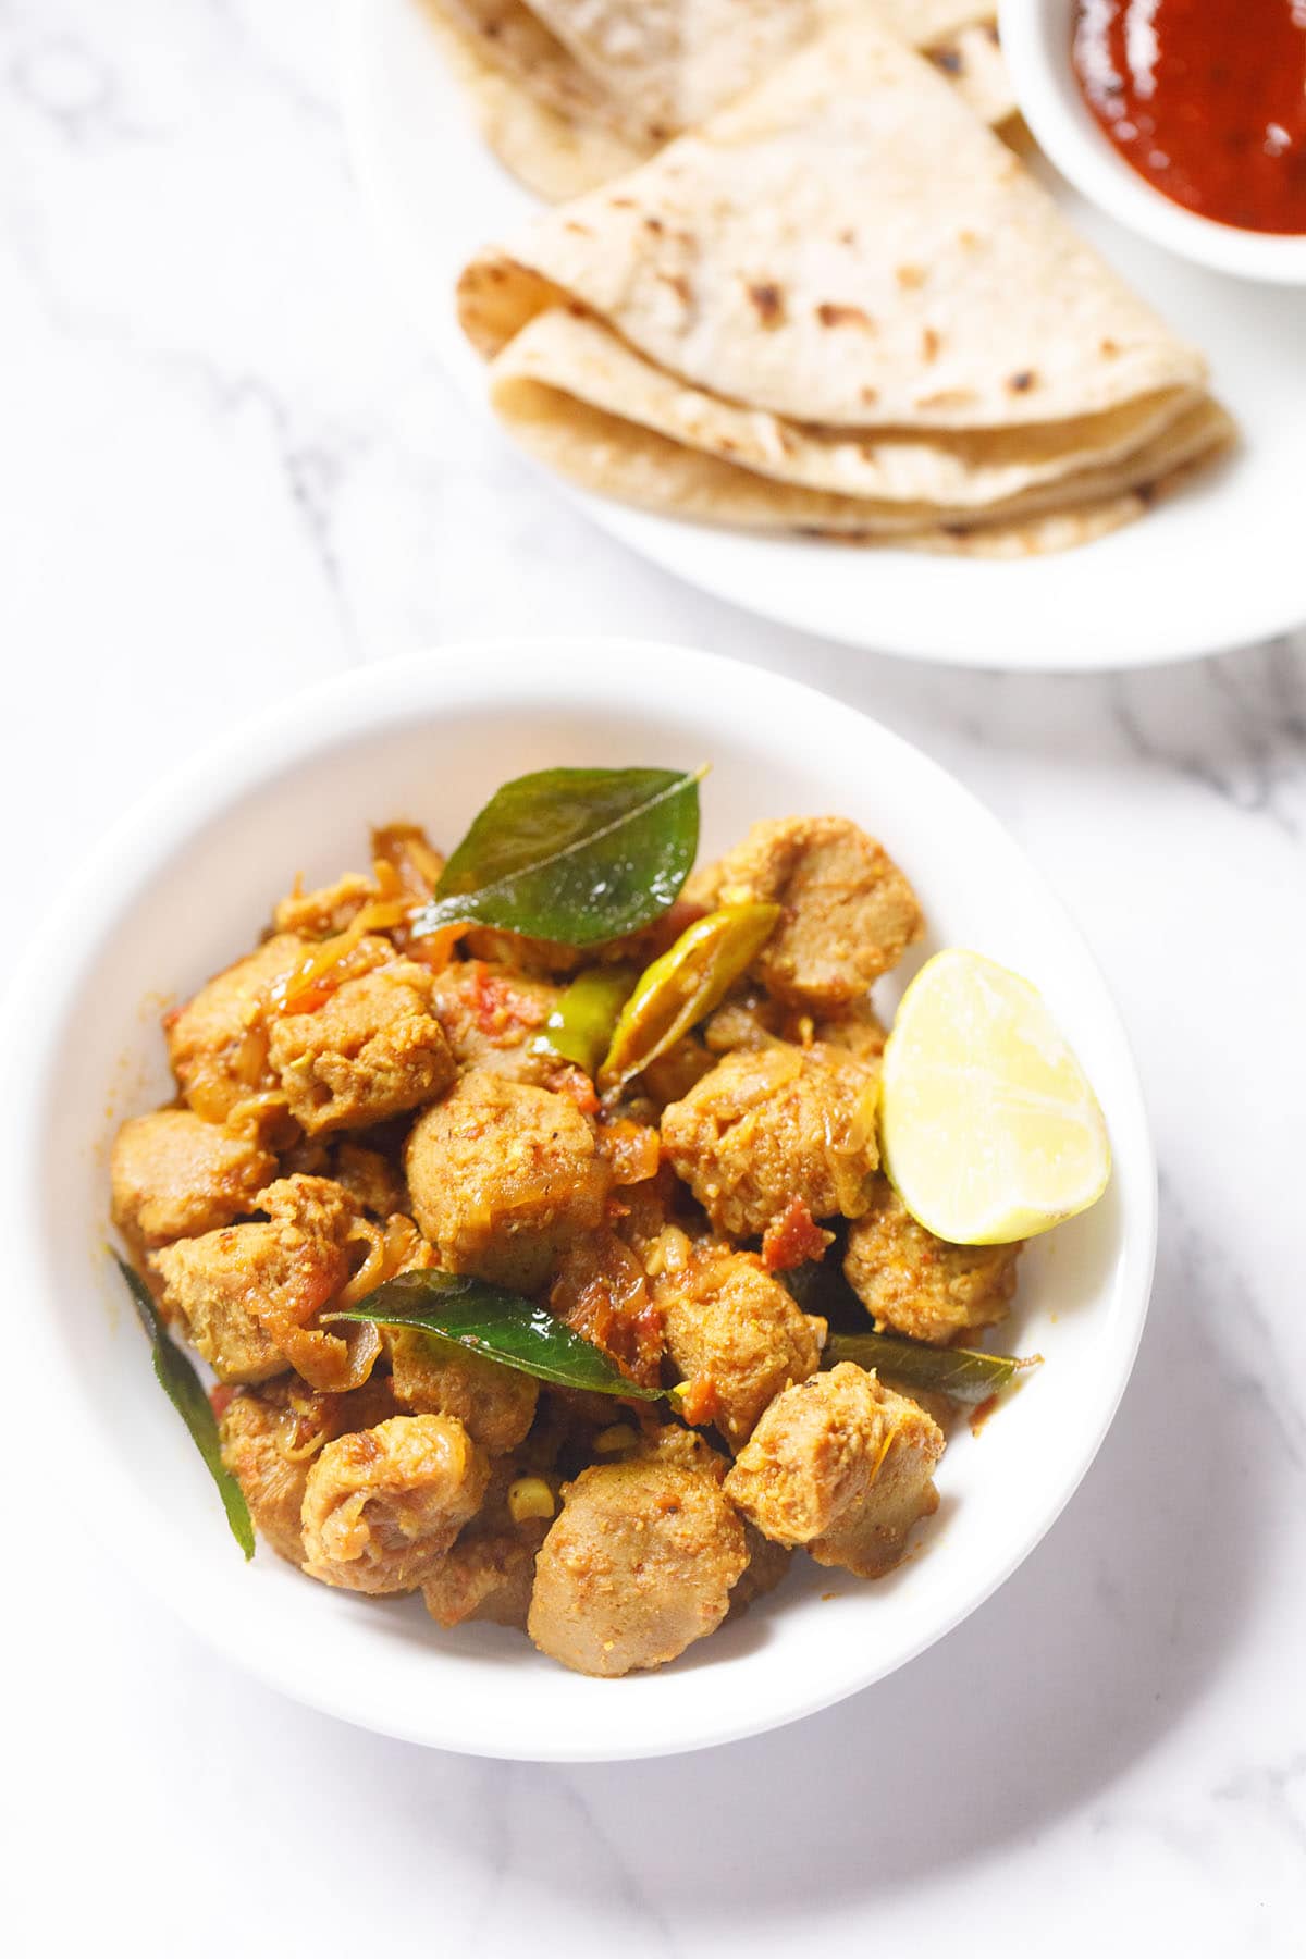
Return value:
[[(454, 840), (505, 778), (550, 762), (711, 762), (703, 846), (754, 817), (840, 811), (885, 838), (932, 925), (910, 970), (969, 944), (1028, 974), (1106, 1111), (1108, 1195), (1026, 1258), (1010, 1340), (1046, 1365), (942, 1465), (944, 1503), (889, 1579), (791, 1573), (674, 1667), (589, 1681), (421, 1601), (245, 1565), (104, 1258), (106, 1142), (170, 1093), (157, 1017), (253, 944), (296, 872), (364, 862), (366, 825)], [(891, 995), (889, 995), (891, 1003)], [(284, 701), (157, 788), (82, 868), (18, 980), (6, 1252), (69, 1444), (78, 1512), (204, 1638), (382, 1734), (519, 1759), (674, 1753), (826, 1706), (920, 1653), (1006, 1579), (1089, 1467), (1143, 1324), (1155, 1168), (1106, 987), (1042, 878), (934, 762), (791, 680), (632, 641), (450, 646)], [(20, 1044), (16, 1044), (20, 1046)], [(830, 1599), (828, 1595), (836, 1597)]]

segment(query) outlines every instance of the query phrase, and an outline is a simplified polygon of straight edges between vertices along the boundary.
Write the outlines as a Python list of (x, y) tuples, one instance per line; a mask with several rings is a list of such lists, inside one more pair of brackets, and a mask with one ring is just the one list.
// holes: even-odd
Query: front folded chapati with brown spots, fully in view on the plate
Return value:
[(1206, 362), (858, 12), (458, 288), (497, 413), (679, 517), (1026, 554), (1224, 449)]

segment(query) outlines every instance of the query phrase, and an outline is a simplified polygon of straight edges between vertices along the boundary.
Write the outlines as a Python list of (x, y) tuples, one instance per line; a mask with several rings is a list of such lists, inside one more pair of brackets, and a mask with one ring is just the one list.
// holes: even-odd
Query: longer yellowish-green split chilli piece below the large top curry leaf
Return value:
[(779, 905), (723, 905), (685, 927), (640, 974), (621, 1011), (599, 1087), (617, 1089), (719, 1007), (775, 931)]

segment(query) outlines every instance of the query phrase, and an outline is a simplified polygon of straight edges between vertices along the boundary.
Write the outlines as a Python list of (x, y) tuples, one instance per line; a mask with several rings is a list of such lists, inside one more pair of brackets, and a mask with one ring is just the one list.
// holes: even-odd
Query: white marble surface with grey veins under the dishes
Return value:
[(1300, 1953), (1306, 641), (959, 676), (632, 560), (378, 290), (323, 14), (0, 4), (8, 950), (268, 690), (523, 627), (783, 666), (954, 768), (1079, 913), (1155, 1117), (1157, 1291), (1095, 1471), (999, 1599), (852, 1704), (634, 1767), (429, 1755), (251, 1685), (45, 1505), (49, 1410), (12, 1393), (8, 1949)]

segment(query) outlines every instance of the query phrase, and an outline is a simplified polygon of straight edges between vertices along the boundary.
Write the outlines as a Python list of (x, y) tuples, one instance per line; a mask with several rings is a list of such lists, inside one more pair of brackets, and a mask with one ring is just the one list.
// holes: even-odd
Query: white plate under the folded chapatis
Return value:
[[(450, 294), (476, 247), (509, 233), (535, 200), (478, 137), (423, 0), (341, 0), (341, 74), (354, 167), (384, 257), (450, 372), (484, 406), (484, 366), (458, 331)], [(1237, 456), (1143, 521), (1081, 550), (985, 564), (758, 539), (566, 494), (613, 537), (705, 592), (920, 660), (1116, 668), (1300, 625), (1306, 294), (1183, 264), (1055, 188), (1138, 290), (1206, 347), (1216, 392), (1243, 429)]]

